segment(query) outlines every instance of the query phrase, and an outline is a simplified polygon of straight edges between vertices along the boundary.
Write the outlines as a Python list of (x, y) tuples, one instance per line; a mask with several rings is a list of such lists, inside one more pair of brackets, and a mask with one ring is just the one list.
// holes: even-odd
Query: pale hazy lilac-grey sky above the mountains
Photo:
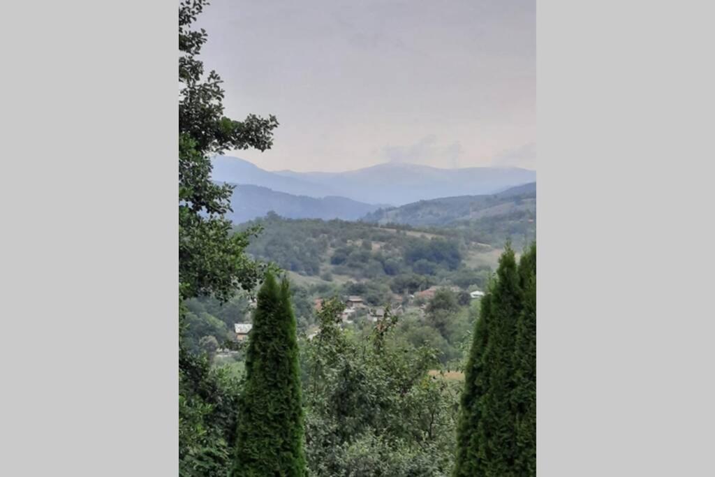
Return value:
[(227, 115), (275, 114), (269, 170), (536, 169), (535, 0), (213, 0)]

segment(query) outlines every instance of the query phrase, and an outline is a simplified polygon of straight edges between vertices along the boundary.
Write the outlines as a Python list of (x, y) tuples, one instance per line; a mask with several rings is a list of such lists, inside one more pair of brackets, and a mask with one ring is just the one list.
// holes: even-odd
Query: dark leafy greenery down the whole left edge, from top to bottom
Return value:
[(272, 145), (275, 117), (250, 114), (238, 122), (223, 115), (224, 92), (216, 72), (204, 78), (197, 55), (207, 41), (192, 24), (207, 0), (179, 5), (179, 474), (225, 476), (237, 421), (237, 384), (214, 372), (206, 357), (187, 348), (184, 301), (197, 296), (225, 302), (252, 290), (265, 271), (245, 254), (258, 228), (232, 233), (225, 218), (232, 188), (211, 180), (210, 154)]

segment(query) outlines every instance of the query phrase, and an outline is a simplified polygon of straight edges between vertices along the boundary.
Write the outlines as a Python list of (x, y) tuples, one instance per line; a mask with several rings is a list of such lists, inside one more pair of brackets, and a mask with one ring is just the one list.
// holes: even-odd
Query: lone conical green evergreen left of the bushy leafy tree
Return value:
[(234, 477), (305, 476), (295, 315), (287, 280), (267, 274), (246, 354)]

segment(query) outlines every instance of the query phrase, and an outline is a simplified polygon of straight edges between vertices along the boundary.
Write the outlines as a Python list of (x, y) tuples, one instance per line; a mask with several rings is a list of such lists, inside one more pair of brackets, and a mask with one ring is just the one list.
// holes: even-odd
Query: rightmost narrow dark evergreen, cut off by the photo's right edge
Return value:
[(514, 467), (519, 476), (536, 476), (536, 244), (521, 257), (519, 275), (524, 302), (514, 351)]

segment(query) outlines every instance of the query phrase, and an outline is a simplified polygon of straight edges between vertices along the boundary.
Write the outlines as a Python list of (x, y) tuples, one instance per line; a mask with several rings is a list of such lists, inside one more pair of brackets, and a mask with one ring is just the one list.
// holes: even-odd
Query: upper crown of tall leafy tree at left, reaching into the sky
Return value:
[(278, 122), (274, 116), (249, 114), (239, 122), (223, 115), (221, 78), (212, 71), (204, 79), (197, 59), (206, 31), (191, 29), (207, 3), (185, 0), (179, 6), (179, 293), (227, 300), (240, 287), (252, 289), (262, 267), (244, 253), (257, 230), (231, 233), (225, 214), (231, 210), (232, 187), (212, 182), (209, 154), (270, 149)]

